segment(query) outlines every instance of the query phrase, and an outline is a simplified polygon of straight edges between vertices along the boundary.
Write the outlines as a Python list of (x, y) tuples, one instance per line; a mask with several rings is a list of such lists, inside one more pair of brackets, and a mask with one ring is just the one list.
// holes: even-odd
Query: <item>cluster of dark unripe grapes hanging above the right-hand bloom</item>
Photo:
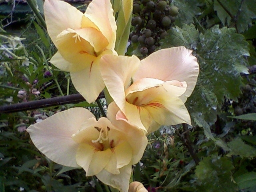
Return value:
[(140, 51), (138, 56), (143, 58), (155, 51), (178, 14), (178, 7), (169, 0), (134, 0), (129, 40)]

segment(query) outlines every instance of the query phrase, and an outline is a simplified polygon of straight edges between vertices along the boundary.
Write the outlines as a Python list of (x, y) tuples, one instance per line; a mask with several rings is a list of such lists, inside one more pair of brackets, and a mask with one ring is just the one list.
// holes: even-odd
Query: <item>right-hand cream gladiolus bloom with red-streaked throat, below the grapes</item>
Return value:
[(154, 52), (142, 61), (135, 56), (102, 56), (102, 78), (120, 109), (116, 119), (128, 120), (148, 133), (160, 125), (191, 124), (184, 102), (199, 73), (191, 53), (175, 47)]

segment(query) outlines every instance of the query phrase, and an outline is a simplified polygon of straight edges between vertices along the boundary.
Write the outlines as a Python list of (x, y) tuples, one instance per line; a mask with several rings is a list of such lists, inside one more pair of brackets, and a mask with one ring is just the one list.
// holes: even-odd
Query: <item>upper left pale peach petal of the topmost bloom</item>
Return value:
[(47, 31), (56, 45), (56, 37), (67, 28), (80, 28), (83, 13), (70, 4), (59, 0), (45, 0), (44, 18)]

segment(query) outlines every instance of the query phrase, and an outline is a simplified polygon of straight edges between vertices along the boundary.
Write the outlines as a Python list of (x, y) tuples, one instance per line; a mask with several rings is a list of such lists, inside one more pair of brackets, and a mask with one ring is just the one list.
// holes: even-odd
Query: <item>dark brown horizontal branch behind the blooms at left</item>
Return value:
[[(100, 93), (100, 95), (98, 96), (98, 99), (99, 98), (104, 98), (103, 92)], [(64, 105), (64, 104), (69, 104), (69, 103), (79, 103), (82, 101), (85, 101), (85, 99), (80, 94), (47, 98), (47, 99), (41, 99), (41, 100), (0, 106), (0, 114), (33, 110), (33, 109), (39, 109), (39, 108), (44, 108), (44, 107)]]

